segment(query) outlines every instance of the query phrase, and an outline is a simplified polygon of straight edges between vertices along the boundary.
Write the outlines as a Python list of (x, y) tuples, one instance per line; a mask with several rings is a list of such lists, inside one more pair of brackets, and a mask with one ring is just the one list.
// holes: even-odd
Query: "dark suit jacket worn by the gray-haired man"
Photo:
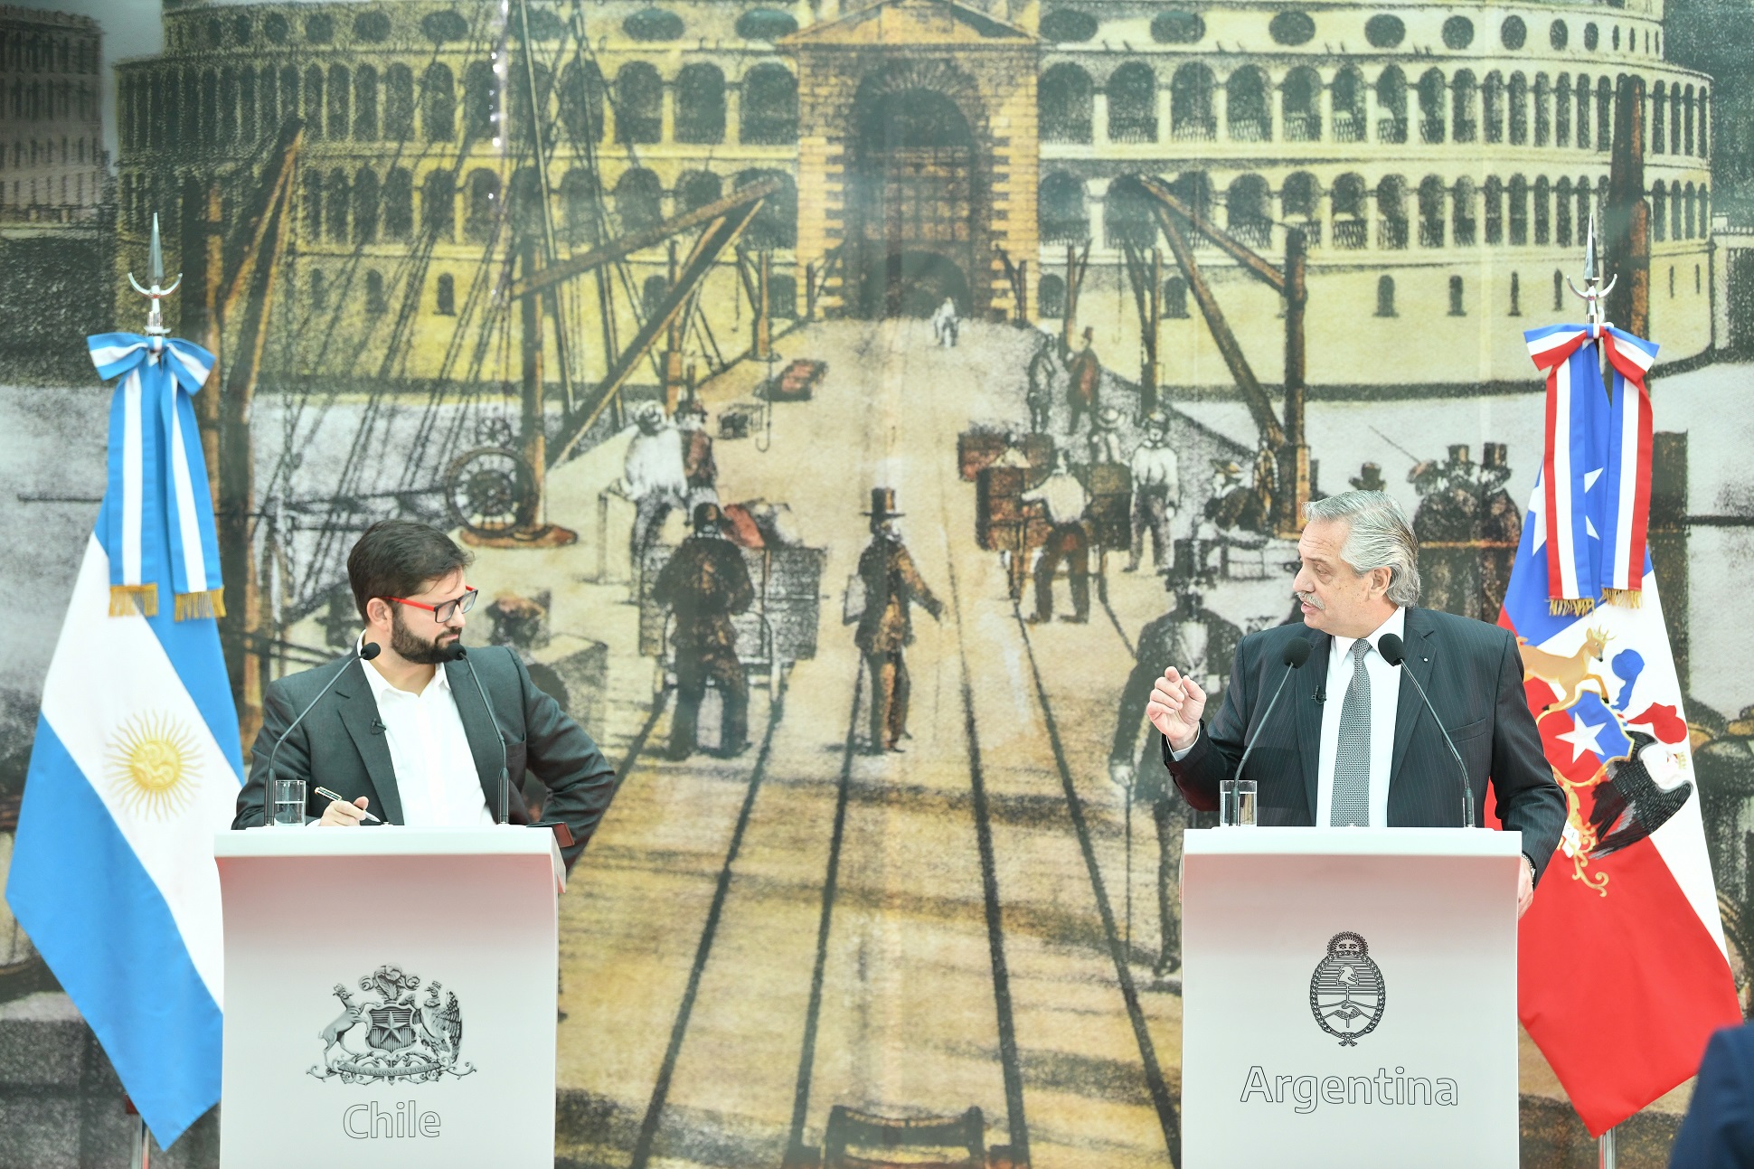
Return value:
[[(1268, 725), (1261, 713), (1286, 674), (1293, 637), (1310, 642), (1310, 660), (1293, 672)], [(1473, 820), (1484, 823), (1491, 779), (1498, 818), (1522, 832), (1522, 851), (1540, 879), (1565, 830), (1565, 793), (1542, 753), (1540, 732), (1522, 693), (1522, 658), (1515, 637), (1496, 625), (1433, 609), (1407, 609), (1407, 663), (1431, 697), (1456, 751), (1468, 767)], [(1217, 785), (1237, 771), (1244, 742), (1259, 735), (1249, 778), (1259, 783), (1259, 823), (1312, 825), (1321, 753), (1321, 716), (1333, 639), (1307, 625), (1279, 625), (1242, 639), (1224, 688), (1224, 704), (1187, 755), (1163, 762), (1189, 804), (1217, 807)], [(1324, 695), (1338, 702), (1340, 695)], [(1389, 827), (1461, 827), (1461, 776), (1444, 735), (1401, 679), (1389, 762)]]

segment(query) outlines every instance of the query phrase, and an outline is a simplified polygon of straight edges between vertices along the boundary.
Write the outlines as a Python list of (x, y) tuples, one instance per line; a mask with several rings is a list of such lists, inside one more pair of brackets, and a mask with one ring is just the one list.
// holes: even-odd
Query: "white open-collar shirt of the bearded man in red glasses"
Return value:
[[(402, 823), (410, 828), (467, 828), (491, 825), (475, 757), (468, 749), (463, 716), (442, 665), (419, 693), (396, 690), (377, 662), (365, 663), (365, 681), (377, 700), (377, 720), (389, 742), (402, 795)], [(382, 809), (374, 809), (382, 814)]]

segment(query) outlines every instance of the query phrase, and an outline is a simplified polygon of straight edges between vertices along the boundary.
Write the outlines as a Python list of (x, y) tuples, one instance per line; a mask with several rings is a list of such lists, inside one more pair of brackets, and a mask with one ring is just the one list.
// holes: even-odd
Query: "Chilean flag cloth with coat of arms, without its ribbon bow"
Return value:
[(1521, 923), (1517, 1009), (1600, 1136), (1693, 1076), (1742, 1009), (1656, 574), (1647, 558), (1638, 606), (1552, 613), (1544, 500), (1537, 486), (1500, 625), (1568, 820)]

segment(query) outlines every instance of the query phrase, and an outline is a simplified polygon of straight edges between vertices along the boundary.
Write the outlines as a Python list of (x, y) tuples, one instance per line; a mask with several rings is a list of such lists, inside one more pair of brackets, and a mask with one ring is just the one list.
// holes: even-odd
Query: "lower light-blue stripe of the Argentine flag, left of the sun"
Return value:
[(7, 902), (168, 1148), (219, 1102), (219, 1006), (158, 886), (44, 718), (19, 818), (32, 830), (14, 844)]

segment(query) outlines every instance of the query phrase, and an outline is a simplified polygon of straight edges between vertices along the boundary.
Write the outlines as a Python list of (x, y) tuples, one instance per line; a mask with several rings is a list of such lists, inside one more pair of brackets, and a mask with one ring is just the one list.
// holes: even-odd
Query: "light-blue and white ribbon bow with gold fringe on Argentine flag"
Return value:
[(175, 620), (225, 616), (219, 539), (193, 393), (214, 355), (177, 337), (86, 339), (111, 398), (109, 486), (98, 539), (111, 563), (111, 616), (158, 614), (168, 569)]

